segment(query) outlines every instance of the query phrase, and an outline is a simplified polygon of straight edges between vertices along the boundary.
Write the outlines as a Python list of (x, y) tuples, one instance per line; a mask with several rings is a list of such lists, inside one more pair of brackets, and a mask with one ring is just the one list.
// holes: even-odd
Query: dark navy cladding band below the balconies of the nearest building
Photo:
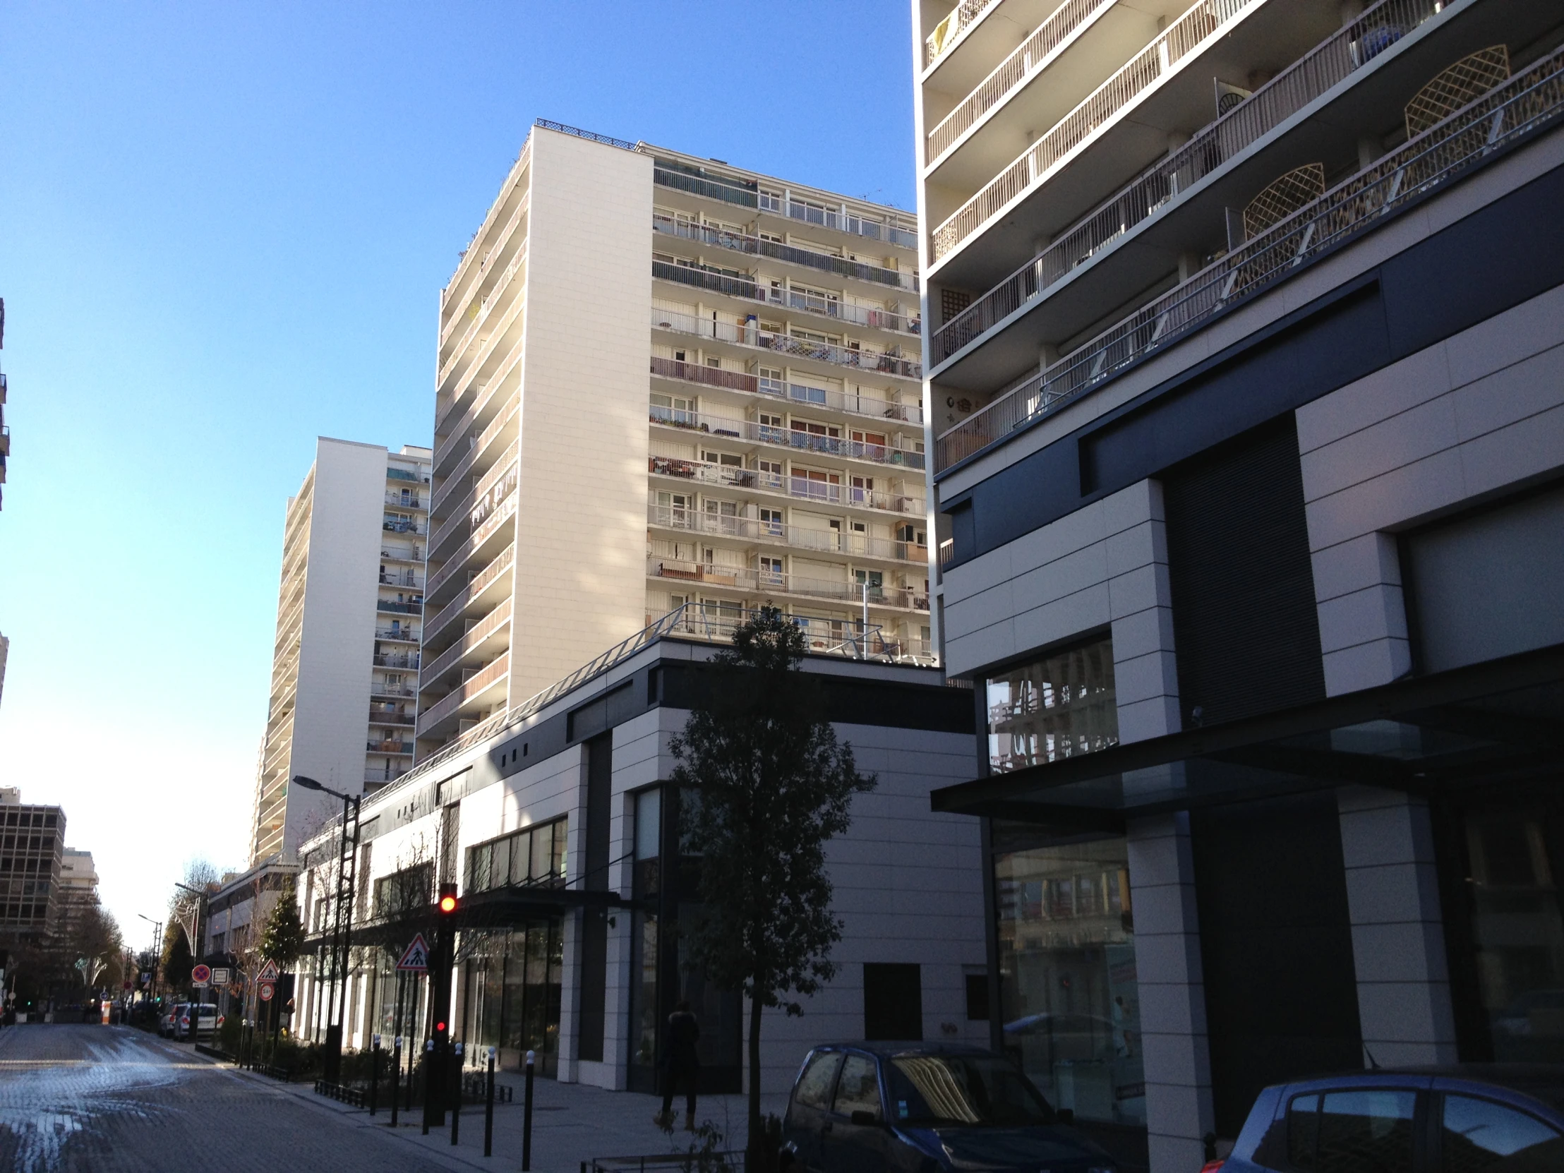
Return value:
[(951, 497), (952, 565), (1564, 285), (1559, 208), (1564, 167)]

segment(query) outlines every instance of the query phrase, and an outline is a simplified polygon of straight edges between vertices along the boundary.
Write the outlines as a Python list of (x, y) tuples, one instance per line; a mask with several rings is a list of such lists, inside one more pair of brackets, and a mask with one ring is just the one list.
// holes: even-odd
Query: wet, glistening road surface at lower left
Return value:
[[(430, 1154), (435, 1157), (435, 1154)], [(141, 1031), (0, 1031), (0, 1170), (441, 1173), (452, 1164)]]

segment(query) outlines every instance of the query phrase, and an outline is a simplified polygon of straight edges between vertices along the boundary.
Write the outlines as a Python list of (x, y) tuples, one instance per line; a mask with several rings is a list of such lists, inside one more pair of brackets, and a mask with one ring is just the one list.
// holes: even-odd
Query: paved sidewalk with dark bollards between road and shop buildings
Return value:
[[(188, 1049), (181, 1046), (180, 1049)], [(324, 1110), (349, 1118), (360, 1128), (378, 1128), (389, 1132), (391, 1109), (382, 1104), (375, 1117), (366, 1109), (349, 1107), (335, 1099), (317, 1096), (313, 1084), (282, 1084), (263, 1074), (238, 1071), (236, 1074), (261, 1081), (269, 1087), (307, 1098)], [(521, 1168), (522, 1095), (526, 1076), (519, 1071), (497, 1071), (496, 1085), (513, 1089), (513, 1103), (494, 1104), (494, 1156), (483, 1159), (483, 1104), (463, 1104), (460, 1143), (450, 1143), (450, 1115), (446, 1126), (422, 1134), (424, 1112), (414, 1104), (410, 1114), (402, 1114), (396, 1135), (422, 1150), (432, 1160), (454, 1170)], [(582, 1084), (558, 1084), (554, 1079), (533, 1081), (532, 1115), (532, 1168), (533, 1173), (579, 1173), (580, 1164), (593, 1157), (652, 1156), (682, 1151), (690, 1143), (688, 1132), (676, 1132), (669, 1140), (654, 1123), (652, 1115), (662, 1107), (660, 1096), (637, 1092), (605, 1092)], [(782, 1115), (787, 1107), (787, 1090), (771, 1092), (760, 1099), (762, 1112)], [(749, 1110), (741, 1095), (702, 1096), (698, 1104), (696, 1123), (710, 1120), (727, 1135), (727, 1148), (743, 1150), (744, 1120)], [(674, 1112), (683, 1121), (683, 1099), (674, 1099)], [(349, 1123), (344, 1120), (344, 1123)]]

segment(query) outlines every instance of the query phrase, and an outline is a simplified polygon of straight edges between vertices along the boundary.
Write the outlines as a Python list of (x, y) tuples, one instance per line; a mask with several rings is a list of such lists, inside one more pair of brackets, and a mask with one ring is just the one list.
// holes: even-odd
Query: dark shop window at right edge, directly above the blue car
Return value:
[(1465, 816), (1472, 943), (1497, 1062), (1564, 1062), (1564, 809)]

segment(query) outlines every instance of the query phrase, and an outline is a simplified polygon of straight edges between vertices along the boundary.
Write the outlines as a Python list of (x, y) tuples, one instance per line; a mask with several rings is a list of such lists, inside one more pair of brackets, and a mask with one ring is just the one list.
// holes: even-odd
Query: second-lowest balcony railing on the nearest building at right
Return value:
[(1383, 0), (1353, 23), (1333, 33), (935, 330), (929, 339), (932, 353), (929, 361), (943, 363), (974, 338), (1040, 297), (1078, 264), (1089, 261), (1137, 224), (1154, 216), (1179, 192), (1189, 191), (1206, 175), (1223, 167), (1251, 142), (1275, 130), (1439, 11), (1440, 0)]

